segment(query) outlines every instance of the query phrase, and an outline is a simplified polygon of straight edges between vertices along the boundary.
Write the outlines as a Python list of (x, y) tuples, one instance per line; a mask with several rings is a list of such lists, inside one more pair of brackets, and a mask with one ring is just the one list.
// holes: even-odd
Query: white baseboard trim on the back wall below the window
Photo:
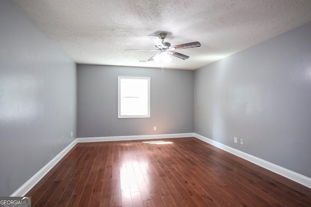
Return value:
[(77, 138), (76, 140), (78, 143), (89, 143), (89, 142), (108, 142), (108, 141), (126, 141), (126, 140), (152, 140), (152, 139), (181, 138), (193, 136), (194, 133), (180, 133), (180, 134), (115, 136), (115, 137), (87, 137), (87, 138)]

